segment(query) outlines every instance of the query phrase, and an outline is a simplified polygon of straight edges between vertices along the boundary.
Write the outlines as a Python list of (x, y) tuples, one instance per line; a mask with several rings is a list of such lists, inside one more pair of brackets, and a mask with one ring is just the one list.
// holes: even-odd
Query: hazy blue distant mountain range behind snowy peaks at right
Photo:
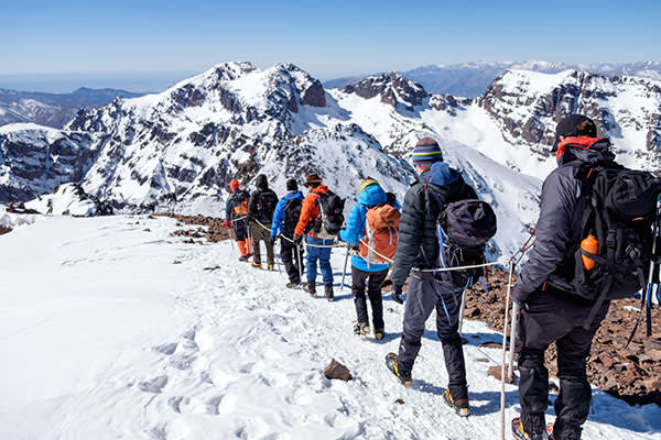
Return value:
[[(475, 98), (485, 92), (487, 87), (507, 70), (521, 69), (556, 74), (563, 70), (578, 70), (611, 76), (639, 76), (661, 80), (661, 62), (640, 63), (602, 63), (602, 64), (567, 64), (548, 63), (542, 61), (528, 61), (523, 63), (464, 63), (449, 65), (429, 65), (401, 74), (420, 82), (425, 90), (432, 94), (449, 94), (457, 97)], [(380, 74), (380, 73), (379, 73)], [(379, 75), (375, 74), (375, 75)], [(324, 82), (324, 87), (344, 88), (348, 84), (360, 80), (365, 76), (350, 76), (332, 79)]]

